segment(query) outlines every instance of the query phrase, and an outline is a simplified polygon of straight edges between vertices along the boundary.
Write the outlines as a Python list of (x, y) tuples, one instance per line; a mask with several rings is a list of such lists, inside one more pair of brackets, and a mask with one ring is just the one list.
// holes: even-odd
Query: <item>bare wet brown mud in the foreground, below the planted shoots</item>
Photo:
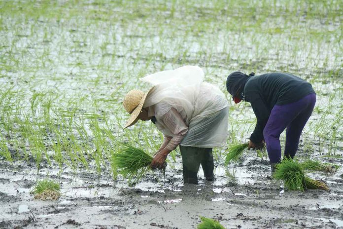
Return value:
[[(336, 174), (312, 173), (331, 191), (285, 191), (269, 177), (270, 167), (260, 158), (245, 157), (233, 165), (229, 179), (221, 165), (216, 180), (182, 184), (182, 171), (168, 168), (165, 177), (148, 175), (133, 187), (108, 174), (36, 170), (26, 163), (1, 162), (1, 228), (111, 228), (190, 229), (199, 216), (217, 219), (225, 228), (342, 228), (342, 169)], [(177, 157), (177, 160), (179, 158)], [(334, 162), (342, 163), (342, 160)], [(58, 201), (35, 200), (30, 189), (35, 179), (61, 183)]]

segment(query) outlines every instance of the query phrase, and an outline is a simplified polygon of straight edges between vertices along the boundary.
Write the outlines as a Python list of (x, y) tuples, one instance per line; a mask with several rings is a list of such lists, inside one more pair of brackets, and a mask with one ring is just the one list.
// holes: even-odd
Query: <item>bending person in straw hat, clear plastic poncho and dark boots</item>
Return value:
[(152, 168), (162, 168), (180, 146), (184, 183), (198, 184), (200, 164), (206, 180), (213, 180), (212, 148), (224, 146), (227, 138), (226, 97), (203, 79), (204, 72), (195, 66), (155, 73), (141, 79), (153, 85), (148, 92), (132, 90), (123, 101), (131, 114), (125, 128), (151, 120), (164, 134)]

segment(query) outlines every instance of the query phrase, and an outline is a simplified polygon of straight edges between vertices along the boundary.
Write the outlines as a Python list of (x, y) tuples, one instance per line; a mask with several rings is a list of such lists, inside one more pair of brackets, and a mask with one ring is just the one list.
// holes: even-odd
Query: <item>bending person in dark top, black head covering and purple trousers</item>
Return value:
[(280, 134), (286, 129), (284, 157), (293, 158), (300, 135), (312, 114), (316, 94), (309, 82), (291, 74), (254, 75), (231, 73), (226, 88), (235, 103), (250, 102), (257, 123), (248, 149), (261, 149), (266, 142), (274, 172), (274, 165), (281, 160)]

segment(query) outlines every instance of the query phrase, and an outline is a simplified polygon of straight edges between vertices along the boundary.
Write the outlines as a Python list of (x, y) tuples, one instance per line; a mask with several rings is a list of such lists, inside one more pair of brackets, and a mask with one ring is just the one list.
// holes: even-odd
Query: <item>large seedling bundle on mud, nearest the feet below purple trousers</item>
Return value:
[(285, 188), (289, 190), (323, 189), (329, 188), (322, 181), (313, 180), (306, 176), (304, 167), (296, 160), (283, 159), (275, 165), (276, 170), (273, 177), (276, 180), (283, 180)]

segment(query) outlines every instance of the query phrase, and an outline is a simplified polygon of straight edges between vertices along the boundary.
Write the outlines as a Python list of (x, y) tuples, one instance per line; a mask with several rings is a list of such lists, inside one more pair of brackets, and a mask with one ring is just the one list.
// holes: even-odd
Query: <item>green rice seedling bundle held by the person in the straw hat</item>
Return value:
[(112, 163), (118, 169), (118, 173), (129, 179), (129, 182), (134, 178), (137, 182), (150, 171), (152, 160), (150, 154), (128, 144), (122, 145), (112, 156)]

